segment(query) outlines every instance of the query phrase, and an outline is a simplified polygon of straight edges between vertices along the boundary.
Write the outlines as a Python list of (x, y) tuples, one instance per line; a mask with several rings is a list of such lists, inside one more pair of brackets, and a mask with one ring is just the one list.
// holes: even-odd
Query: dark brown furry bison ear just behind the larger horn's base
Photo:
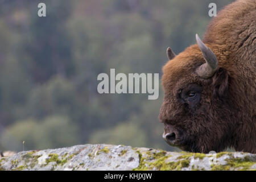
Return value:
[(229, 74), (226, 69), (218, 68), (212, 80), (214, 95), (224, 96), (229, 86)]

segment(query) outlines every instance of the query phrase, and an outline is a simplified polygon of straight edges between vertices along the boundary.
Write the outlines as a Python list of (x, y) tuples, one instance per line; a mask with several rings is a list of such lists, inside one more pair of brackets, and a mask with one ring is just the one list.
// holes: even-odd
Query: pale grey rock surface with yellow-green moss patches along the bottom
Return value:
[(85, 144), (19, 152), (0, 158), (0, 170), (256, 170), (256, 154), (198, 154)]

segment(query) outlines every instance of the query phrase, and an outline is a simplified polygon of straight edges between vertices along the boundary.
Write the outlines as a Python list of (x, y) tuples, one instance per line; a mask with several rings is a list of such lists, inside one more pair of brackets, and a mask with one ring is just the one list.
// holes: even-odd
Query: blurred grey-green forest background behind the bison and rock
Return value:
[[(46, 3), (46, 18), (38, 3)], [(98, 94), (97, 75), (160, 73), (203, 38), (209, 3), (231, 0), (0, 0), (0, 150), (85, 143), (177, 151), (162, 139), (163, 101)]]

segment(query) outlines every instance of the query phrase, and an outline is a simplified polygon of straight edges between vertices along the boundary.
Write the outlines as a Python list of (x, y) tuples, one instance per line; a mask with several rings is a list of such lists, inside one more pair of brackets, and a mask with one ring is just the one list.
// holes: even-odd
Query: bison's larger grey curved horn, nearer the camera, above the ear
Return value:
[(213, 76), (218, 68), (218, 60), (217, 57), (214, 55), (212, 50), (205, 46), (205, 44), (201, 41), (199, 36), (196, 34), (196, 42), (203, 53), (204, 59), (206, 63), (200, 65), (199, 68), (196, 69), (197, 75), (203, 78), (209, 78)]

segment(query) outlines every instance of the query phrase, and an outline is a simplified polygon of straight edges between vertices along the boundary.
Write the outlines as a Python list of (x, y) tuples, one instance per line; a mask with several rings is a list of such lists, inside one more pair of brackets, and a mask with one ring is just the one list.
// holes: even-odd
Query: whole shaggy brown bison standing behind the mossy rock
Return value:
[(163, 138), (185, 151), (226, 148), (256, 153), (256, 1), (231, 3), (212, 19), (203, 41), (163, 67)]

